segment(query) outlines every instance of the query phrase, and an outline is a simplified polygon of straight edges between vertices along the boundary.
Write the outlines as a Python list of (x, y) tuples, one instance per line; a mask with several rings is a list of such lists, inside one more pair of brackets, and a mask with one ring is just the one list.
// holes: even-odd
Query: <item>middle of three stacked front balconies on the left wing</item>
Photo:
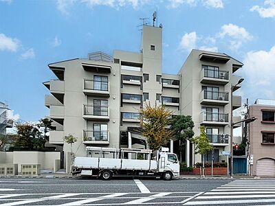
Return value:
[(109, 106), (84, 104), (83, 118), (89, 120), (109, 121)]

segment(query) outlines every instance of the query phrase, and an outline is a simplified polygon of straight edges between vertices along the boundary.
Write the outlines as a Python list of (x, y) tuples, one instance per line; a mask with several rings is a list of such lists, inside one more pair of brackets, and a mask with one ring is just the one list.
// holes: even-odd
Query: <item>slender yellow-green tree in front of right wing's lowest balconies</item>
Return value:
[(190, 139), (195, 144), (195, 154), (201, 154), (202, 155), (202, 164), (204, 168), (204, 156), (213, 150), (212, 146), (209, 143), (208, 137), (206, 135), (206, 127), (200, 126), (199, 128), (201, 130), (201, 133), (197, 137), (193, 137)]

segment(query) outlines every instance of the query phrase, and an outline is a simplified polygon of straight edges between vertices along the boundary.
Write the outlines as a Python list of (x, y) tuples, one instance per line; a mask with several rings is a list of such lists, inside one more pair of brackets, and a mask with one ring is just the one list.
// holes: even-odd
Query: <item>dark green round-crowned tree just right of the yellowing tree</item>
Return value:
[(179, 161), (181, 162), (181, 153), (186, 139), (194, 136), (194, 122), (190, 115), (175, 115), (171, 119), (170, 129), (174, 131), (175, 139), (179, 140)]

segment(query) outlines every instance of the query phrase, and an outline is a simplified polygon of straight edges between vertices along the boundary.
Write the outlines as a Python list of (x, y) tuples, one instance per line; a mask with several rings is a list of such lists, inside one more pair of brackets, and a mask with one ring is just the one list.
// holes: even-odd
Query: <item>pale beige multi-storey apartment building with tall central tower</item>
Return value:
[[(144, 25), (140, 52), (95, 52), (48, 65), (58, 78), (43, 83), (56, 126), (50, 144), (63, 146), (67, 170), (70, 147), (63, 137), (68, 134), (78, 137), (77, 156), (86, 155), (86, 146), (148, 148), (137, 131), (139, 110), (150, 102), (165, 104), (174, 115), (191, 115), (195, 135), (205, 125), (215, 161), (221, 161), (221, 151), (230, 150), (230, 87), (239, 80), (233, 73), (242, 66), (226, 54), (192, 50), (177, 75), (162, 73), (162, 27)], [(239, 108), (241, 97), (232, 102)], [(170, 149), (177, 151), (178, 142), (171, 140)], [(201, 161), (189, 141), (183, 159), (188, 165)]]

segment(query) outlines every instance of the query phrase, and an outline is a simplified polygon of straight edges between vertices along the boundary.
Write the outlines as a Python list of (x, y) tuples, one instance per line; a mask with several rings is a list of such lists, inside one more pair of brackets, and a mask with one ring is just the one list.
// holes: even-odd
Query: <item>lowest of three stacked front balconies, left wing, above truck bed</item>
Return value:
[(83, 144), (109, 144), (109, 130), (83, 130)]

